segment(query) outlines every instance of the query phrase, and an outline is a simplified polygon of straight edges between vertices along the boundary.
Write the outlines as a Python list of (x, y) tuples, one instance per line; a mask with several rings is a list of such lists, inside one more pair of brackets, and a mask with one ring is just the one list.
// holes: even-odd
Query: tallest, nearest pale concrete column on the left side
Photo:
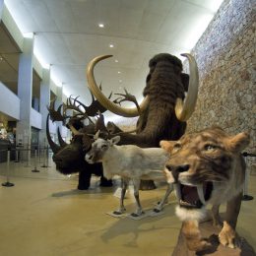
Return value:
[[(18, 73), (18, 96), (21, 99), (20, 121), (17, 122), (17, 142), (31, 147), (31, 111), (32, 111), (32, 51), (33, 36), (24, 38), (23, 53), (20, 55)], [(28, 155), (30, 159), (30, 154)]]

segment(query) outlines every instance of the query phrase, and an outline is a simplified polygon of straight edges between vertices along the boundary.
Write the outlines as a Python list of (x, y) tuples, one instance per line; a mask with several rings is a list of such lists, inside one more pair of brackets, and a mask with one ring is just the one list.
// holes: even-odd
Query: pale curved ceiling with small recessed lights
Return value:
[[(34, 52), (51, 64), (64, 93), (89, 103), (85, 69), (101, 54), (113, 57), (96, 67), (105, 95), (142, 98), (148, 62), (155, 54), (189, 52), (222, 0), (5, 0), (21, 32), (34, 32)], [(104, 28), (98, 28), (98, 24)], [(109, 44), (114, 45), (113, 48)], [(115, 62), (118, 60), (118, 62)], [(118, 71), (121, 72), (118, 74)]]

